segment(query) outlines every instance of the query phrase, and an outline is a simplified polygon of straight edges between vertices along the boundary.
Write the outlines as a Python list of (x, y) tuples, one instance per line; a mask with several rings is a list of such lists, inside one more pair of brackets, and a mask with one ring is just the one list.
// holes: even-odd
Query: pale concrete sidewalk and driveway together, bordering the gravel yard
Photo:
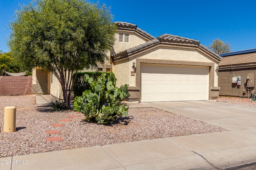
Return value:
[(12, 156), (0, 158), (1, 163), (12, 163), (0, 164), (0, 169), (213, 170), (256, 162), (254, 108), (210, 101), (139, 105), (158, 107), (230, 131)]

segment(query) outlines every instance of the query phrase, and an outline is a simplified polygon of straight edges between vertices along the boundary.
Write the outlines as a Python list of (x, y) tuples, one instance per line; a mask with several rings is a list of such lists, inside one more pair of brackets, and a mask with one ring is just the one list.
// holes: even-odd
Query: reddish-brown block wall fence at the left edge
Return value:
[(32, 76), (0, 76), (0, 96), (32, 94)]

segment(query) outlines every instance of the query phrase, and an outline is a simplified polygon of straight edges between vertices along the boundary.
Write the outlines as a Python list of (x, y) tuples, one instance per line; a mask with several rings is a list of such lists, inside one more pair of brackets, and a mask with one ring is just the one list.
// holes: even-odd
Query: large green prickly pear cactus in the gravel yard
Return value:
[(105, 124), (111, 123), (117, 116), (127, 116), (128, 107), (120, 104), (130, 96), (128, 85), (115, 87), (116, 82), (111, 81), (112, 74), (106, 76), (103, 73), (97, 81), (87, 74), (84, 76), (90, 84), (90, 90), (84, 91), (82, 96), (76, 96), (73, 110), (82, 112), (87, 121)]

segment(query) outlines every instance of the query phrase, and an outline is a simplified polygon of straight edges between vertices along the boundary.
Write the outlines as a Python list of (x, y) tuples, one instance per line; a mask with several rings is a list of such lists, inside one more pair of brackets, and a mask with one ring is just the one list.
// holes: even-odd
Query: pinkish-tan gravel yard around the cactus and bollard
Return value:
[[(0, 96), (0, 157), (49, 152), (164, 137), (226, 131), (202, 121), (176, 115), (153, 107), (129, 108), (128, 117), (120, 117), (110, 125), (88, 123), (84, 115), (71, 110), (54, 112), (47, 105), (36, 104), (35, 96)], [(16, 107), (16, 132), (5, 133), (4, 107)], [(61, 119), (72, 119), (61, 122)], [(64, 127), (51, 127), (64, 123)], [(46, 134), (60, 130), (61, 134)], [(62, 137), (64, 141), (46, 141)]]

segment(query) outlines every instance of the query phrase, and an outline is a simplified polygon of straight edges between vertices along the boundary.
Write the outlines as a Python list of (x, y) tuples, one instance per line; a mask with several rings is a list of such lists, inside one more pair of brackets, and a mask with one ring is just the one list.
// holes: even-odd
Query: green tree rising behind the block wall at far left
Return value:
[(20, 64), (13, 59), (10, 52), (2, 53), (0, 51), (0, 70), (5, 70), (7, 72), (20, 72)]

